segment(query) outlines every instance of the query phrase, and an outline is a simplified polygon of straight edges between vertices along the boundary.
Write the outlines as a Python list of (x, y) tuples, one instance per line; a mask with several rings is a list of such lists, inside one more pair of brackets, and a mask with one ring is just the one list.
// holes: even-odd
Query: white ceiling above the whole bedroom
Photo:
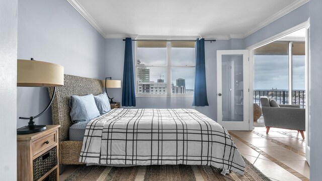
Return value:
[(308, 0), (67, 0), (105, 38), (245, 38)]

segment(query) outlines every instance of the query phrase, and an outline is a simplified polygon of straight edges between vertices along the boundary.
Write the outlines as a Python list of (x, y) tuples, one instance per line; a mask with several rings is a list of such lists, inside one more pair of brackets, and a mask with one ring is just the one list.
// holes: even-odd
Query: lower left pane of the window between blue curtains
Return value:
[(137, 94), (167, 94), (167, 92), (167, 68), (137, 68)]

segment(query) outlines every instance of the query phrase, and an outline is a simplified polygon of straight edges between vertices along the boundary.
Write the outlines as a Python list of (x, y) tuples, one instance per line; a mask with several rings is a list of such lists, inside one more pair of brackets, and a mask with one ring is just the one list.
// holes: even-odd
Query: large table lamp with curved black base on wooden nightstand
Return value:
[(36, 116), (19, 117), (29, 119), (28, 125), (18, 128), (17, 134), (29, 134), (47, 129), (46, 125), (36, 125), (34, 119), (41, 116), (51, 105), (56, 91), (56, 86), (64, 85), (64, 67), (41, 61), (18, 60), (17, 86), (18, 87), (54, 87), (48, 106)]

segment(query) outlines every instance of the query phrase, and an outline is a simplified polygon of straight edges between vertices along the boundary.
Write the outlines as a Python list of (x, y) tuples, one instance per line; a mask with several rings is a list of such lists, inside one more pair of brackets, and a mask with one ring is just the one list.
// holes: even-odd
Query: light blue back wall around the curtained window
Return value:
[[(237, 40), (240, 41), (240, 40)], [(242, 44), (240, 44), (242, 45)], [(106, 76), (114, 80), (123, 79), (124, 46), (122, 39), (106, 39)], [(134, 45), (133, 45), (134, 48)], [(207, 96), (209, 106), (192, 106), (193, 97), (136, 97), (135, 108), (192, 108), (216, 120), (217, 117), (217, 76), (216, 76), (216, 51), (230, 49), (228, 40), (205, 42), (205, 63)], [(134, 50), (133, 50), (134, 53)], [(114, 101), (121, 102), (122, 90), (109, 89), (109, 96)]]

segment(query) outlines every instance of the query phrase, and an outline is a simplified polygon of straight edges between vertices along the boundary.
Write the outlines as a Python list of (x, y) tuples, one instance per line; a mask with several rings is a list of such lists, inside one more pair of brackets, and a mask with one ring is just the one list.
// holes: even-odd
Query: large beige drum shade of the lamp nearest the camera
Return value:
[(17, 86), (56, 87), (64, 85), (64, 67), (35, 60), (18, 60)]

